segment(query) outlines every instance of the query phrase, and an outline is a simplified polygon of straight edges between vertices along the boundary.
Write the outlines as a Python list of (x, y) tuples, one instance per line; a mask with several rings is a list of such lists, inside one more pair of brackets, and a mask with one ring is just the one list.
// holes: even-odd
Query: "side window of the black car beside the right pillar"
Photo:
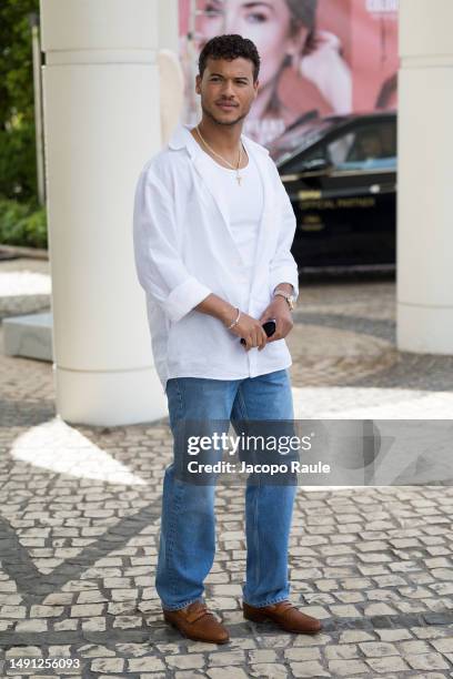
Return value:
[(326, 146), (336, 170), (396, 168), (396, 125), (391, 121), (360, 125), (333, 139)]

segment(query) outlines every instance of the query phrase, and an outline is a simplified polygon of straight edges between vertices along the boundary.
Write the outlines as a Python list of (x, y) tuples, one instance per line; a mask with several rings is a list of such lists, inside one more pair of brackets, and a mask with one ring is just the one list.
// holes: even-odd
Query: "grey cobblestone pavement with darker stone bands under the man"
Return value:
[[(47, 274), (1, 262), (0, 315), (48, 307)], [(392, 281), (310, 283), (301, 297), (299, 416), (451, 416), (452, 358), (395, 349)], [(72, 427), (49, 363), (0, 352), (0, 676), (453, 677), (451, 487), (299, 488), (291, 599), (324, 622), (305, 637), (242, 618), (243, 488), (219, 486), (205, 595), (231, 642), (194, 642), (162, 621), (153, 588), (167, 419)], [(81, 668), (8, 671), (17, 658)]]

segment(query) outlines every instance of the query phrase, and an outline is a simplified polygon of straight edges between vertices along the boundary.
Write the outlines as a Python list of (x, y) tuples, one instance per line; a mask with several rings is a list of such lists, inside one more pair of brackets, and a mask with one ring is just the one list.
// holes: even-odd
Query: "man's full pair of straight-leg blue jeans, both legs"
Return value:
[[(177, 377), (167, 383), (170, 427), (181, 419), (292, 420), (288, 369), (244, 379)], [(178, 446), (174, 446), (174, 456)], [(203, 601), (203, 580), (215, 555), (215, 485), (175, 476), (175, 458), (163, 479), (162, 520), (155, 588), (168, 610)], [(289, 598), (288, 544), (296, 485), (245, 489), (246, 579), (243, 600), (268, 606)]]

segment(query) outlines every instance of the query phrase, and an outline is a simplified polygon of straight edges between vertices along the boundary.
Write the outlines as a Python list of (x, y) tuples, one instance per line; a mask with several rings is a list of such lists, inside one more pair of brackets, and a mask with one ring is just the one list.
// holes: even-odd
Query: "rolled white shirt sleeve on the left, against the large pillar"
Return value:
[(189, 273), (179, 252), (173, 199), (151, 170), (140, 174), (133, 207), (133, 249), (140, 285), (171, 321), (211, 294)]

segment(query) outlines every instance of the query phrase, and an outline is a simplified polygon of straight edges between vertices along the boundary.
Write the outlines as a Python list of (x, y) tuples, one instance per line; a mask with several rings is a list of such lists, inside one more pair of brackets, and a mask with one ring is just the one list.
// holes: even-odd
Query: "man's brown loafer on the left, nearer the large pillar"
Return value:
[(172, 627), (194, 641), (226, 643), (230, 641), (228, 629), (221, 625), (202, 601), (193, 601), (179, 610), (163, 610), (163, 617)]

